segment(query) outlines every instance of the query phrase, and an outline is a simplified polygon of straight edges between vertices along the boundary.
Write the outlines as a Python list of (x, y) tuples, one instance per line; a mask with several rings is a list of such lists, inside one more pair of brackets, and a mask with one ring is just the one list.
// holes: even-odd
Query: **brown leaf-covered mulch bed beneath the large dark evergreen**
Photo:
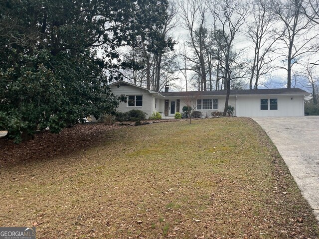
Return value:
[[(177, 119), (180, 121), (181, 119)], [(175, 119), (145, 120), (144, 123), (176, 121)], [(21, 161), (50, 159), (86, 150), (105, 140), (109, 130), (134, 126), (135, 122), (84, 123), (64, 128), (58, 134), (48, 130), (36, 134), (35, 139), (15, 144), (12, 140), (0, 138), (0, 165)]]

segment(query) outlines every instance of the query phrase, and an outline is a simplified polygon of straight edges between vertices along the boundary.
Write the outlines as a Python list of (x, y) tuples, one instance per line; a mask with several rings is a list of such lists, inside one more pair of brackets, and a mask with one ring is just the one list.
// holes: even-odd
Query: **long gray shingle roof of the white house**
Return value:
[[(183, 97), (183, 96), (226, 96), (227, 91), (187, 91), (187, 92), (160, 92), (164, 97)], [(282, 89), (259, 89), (259, 90), (232, 90), (230, 95), (309, 95), (308, 92), (299, 88)]]

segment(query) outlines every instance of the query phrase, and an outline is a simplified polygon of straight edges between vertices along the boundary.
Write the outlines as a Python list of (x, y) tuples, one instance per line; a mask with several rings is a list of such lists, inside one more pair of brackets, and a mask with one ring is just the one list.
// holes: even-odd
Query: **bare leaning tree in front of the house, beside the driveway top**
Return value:
[[(230, 95), (230, 81), (232, 80), (232, 70), (236, 61), (232, 47), (235, 37), (241, 30), (242, 25), (245, 23), (248, 15), (247, 6), (240, 0), (221, 0), (213, 1), (211, 6), (211, 13), (213, 17), (214, 33), (221, 34), (222, 37), (217, 37), (217, 44), (224, 56), (224, 81), (226, 83), (227, 95), (225, 101), (225, 108), (223, 116), (226, 116), (228, 108), (228, 100)], [(237, 55), (238, 56), (238, 55)]]

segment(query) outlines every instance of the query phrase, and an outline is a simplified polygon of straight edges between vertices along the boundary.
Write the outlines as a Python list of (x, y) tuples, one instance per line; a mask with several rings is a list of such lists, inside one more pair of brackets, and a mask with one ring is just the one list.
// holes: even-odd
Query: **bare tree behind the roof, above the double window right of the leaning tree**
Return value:
[[(267, 7), (267, 0), (254, 0), (251, 4), (252, 21), (248, 24), (246, 34), (254, 44), (254, 59), (251, 65), (249, 89), (258, 89), (258, 81), (267, 74), (271, 59), (266, 59), (274, 43), (280, 37), (275, 30), (273, 13)], [(255, 80), (253, 84), (253, 80)]]

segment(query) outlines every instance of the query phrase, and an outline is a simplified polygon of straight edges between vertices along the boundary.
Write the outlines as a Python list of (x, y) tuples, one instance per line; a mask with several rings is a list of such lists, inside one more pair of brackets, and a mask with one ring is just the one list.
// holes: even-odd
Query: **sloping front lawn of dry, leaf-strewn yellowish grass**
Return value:
[(318, 238), (312, 210), (251, 119), (103, 137), (66, 157), (4, 164), (0, 225), (33, 224), (39, 239)]

